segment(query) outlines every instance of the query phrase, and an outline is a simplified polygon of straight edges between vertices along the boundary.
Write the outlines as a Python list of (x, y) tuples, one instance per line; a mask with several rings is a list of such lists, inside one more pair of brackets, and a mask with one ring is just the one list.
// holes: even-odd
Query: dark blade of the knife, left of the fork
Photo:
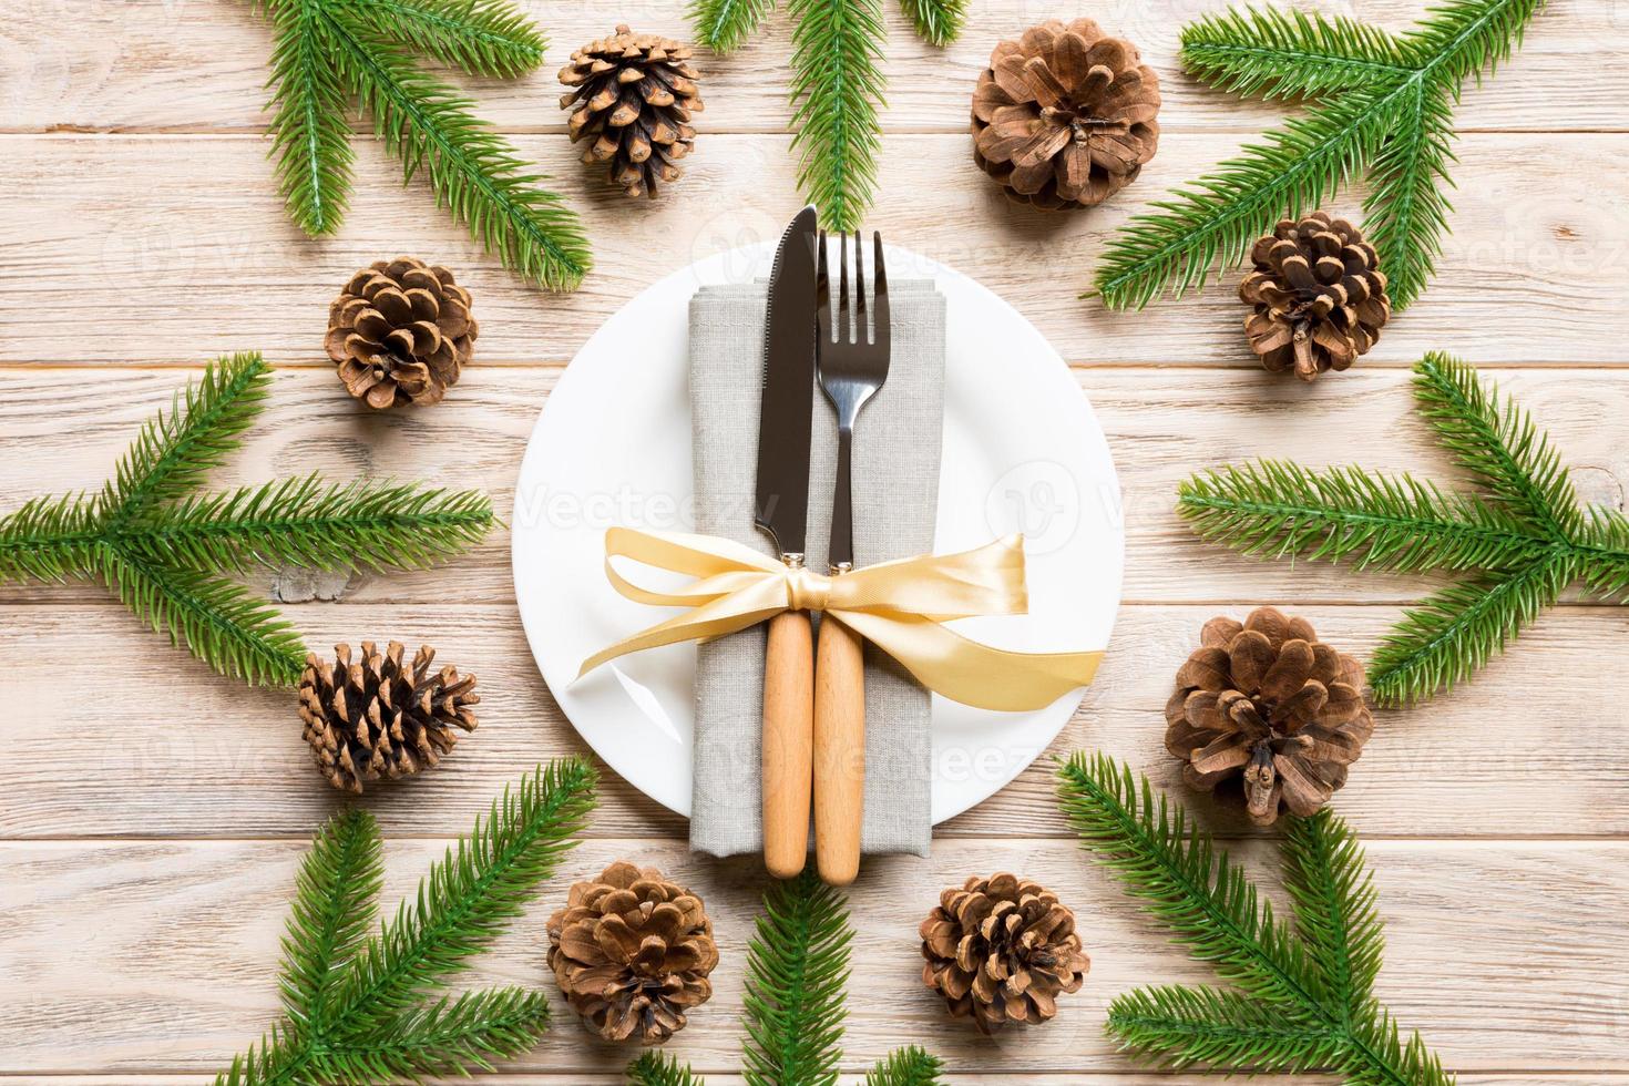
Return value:
[(784, 562), (803, 555), (814, 405), (814, 207), (787, 225), (764, 309), (764, 391), (757, 422), (754, 523)]

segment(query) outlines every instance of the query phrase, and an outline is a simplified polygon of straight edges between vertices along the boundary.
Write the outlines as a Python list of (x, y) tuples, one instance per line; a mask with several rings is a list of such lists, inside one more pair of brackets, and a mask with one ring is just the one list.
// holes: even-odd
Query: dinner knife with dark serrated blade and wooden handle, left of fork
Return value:
[[(764, 389), (757, 418), (754, 523), (788, 568), (801, 568), (814, 407), (814, 207), (775, 249), (764, 309)], [(764, 655), (764, 866), (777, 879), (808, 856), (814, 744), (814, 638), (806, 611), (769, 620)]]

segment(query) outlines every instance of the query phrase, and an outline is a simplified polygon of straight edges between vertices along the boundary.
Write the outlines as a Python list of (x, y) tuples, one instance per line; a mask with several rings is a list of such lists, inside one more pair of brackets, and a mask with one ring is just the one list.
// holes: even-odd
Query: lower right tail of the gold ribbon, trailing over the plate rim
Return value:
[(898, 659), (917, 682), (974, 708), (1046, 708), (1090, 685), (1103, 651), (1015, 653), (968, 640), (932, 619), (829, 611), (850, 630)]

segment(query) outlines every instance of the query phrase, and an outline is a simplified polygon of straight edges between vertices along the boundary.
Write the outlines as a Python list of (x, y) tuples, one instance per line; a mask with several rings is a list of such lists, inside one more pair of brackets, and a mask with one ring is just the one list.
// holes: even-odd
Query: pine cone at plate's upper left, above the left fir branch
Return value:
[(476, 348), (469, 291), (445, 267), (401, 257), (350, 277), (327, 311), (327, 357), (368, 407), (435, 404)]

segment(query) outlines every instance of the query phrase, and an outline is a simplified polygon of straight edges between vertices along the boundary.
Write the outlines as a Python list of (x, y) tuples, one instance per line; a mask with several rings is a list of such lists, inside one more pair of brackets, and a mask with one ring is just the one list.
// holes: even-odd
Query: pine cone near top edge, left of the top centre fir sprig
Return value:
[(560, 81), (577, 90), (560, 96), (572, 111), (572, 143), (593, 137), (585, 163), (611, 163), (611, 181), (629, 195), (656, 197), (656, 182), (678, 181), (673, 163), (696, 147), (691, 114), (702, 112), (694, 50), (658, 34), (616, 34), (572, 54)]

